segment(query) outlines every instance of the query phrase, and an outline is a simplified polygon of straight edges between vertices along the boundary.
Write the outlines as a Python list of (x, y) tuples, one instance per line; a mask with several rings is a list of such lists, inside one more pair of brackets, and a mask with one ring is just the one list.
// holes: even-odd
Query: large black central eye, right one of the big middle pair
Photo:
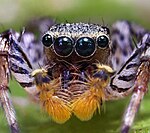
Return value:
[(76, 42), (76, 52), (80, 56), (91, 56), (94, 53), (95, 49), (95, 42), (92, 38), (81, 37)]

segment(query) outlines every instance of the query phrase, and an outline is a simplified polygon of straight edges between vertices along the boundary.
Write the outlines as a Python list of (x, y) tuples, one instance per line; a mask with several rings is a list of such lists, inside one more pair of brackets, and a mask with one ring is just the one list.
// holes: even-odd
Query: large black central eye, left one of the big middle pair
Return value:
[(66, 36), (58, 37), (54, 42), (54, 50), (60, 56), (69, 56), (73, 51), (74, 42)]

